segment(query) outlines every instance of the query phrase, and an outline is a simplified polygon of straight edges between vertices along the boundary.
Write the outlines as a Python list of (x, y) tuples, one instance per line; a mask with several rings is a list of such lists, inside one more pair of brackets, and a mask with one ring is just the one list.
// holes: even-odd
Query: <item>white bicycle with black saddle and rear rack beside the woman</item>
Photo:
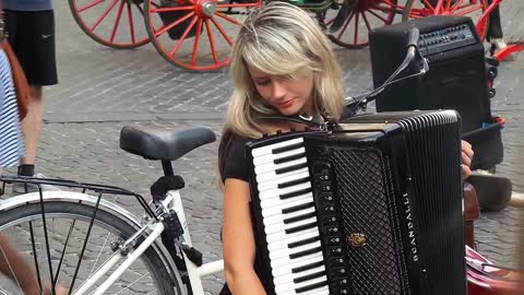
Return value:
[[(39, 286), (63, 282), (75, 295), (204, 294), (201, 279), (222, 272), (224, 262), (202, 263), (192, 247), (180, 196), (184, 182), (174, 174), (171, 161), (215, 139), (207, 128), (165, 134), (124, 127), (123, 150), (163, 164), (164, 176), (152, 186), (150, 203), (114, 186), (2, 176), (2, 191), (13, 182), (40, 189), (0, 202), (0, 233), (31, 257)], [(41, 185), (80, 191), (43, 191)], [(135, 198), (144, 216), (136, 219), (107, 201), (107, 194)], [(0, 280), (3, 294), (21, 288), (7, 282)]]

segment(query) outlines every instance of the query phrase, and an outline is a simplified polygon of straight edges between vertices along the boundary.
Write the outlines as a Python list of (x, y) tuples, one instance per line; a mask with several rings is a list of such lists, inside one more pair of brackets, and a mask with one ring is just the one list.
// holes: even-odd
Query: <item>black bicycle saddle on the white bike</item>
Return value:
[(215, 140), (215, 133), (204, 127), (166, 131), (124, 126), (120, 130), (120, 149), (147, 160), (175, 161)]

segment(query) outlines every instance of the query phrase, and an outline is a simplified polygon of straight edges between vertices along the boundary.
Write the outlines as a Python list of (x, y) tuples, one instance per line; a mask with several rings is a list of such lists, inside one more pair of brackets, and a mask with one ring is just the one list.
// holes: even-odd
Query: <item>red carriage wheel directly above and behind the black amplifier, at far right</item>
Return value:
[[(429, 15), (460, 15), (469, 16), (474, 22), (478, 22), (487, 9), (487, 0), (407, 0), (402, 20)], [(485, 17), (481, 23), (476, 23), (483, 40), (488, 32), (488, 22), (489, 17)]]

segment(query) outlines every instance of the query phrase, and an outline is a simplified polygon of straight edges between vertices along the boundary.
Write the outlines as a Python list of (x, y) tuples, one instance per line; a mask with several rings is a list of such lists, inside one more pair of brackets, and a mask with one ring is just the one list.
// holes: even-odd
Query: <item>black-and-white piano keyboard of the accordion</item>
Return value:
[(251, 152), (276, 294), (330, 294), (303, 139)]

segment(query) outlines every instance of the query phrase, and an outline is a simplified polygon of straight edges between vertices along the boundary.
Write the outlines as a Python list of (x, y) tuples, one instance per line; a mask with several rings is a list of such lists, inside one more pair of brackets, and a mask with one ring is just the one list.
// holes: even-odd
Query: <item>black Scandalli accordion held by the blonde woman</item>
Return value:
[(460, 126), (381, 113), (248, 142), (270, 293), (466, 294)]

